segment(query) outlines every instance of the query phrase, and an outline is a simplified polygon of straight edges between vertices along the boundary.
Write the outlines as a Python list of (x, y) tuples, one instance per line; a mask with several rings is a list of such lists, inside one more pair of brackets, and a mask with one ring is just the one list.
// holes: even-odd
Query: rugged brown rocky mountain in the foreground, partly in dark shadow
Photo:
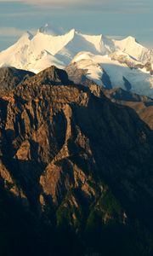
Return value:
[(35, 219), (34, 251), (151, 255), (152, 131), (132, 108), (50, 67), (0, 97), (0, 119), (2, 195)]

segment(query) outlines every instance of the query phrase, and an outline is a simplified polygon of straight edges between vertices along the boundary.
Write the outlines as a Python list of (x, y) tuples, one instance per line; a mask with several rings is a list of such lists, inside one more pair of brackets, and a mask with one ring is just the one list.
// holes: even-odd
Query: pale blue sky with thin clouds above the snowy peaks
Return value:
[(0, 0), (0, 50), (45, 23), (87, 33), (133, 36), (153, 49), (153, 0)]

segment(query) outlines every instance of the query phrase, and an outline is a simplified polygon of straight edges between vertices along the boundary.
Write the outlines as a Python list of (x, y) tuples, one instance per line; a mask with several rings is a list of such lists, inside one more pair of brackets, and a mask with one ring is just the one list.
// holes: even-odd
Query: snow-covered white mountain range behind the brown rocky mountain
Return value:
[(153, 51), (133, 37), (116, 40), (75, 29), (63, 32), (46, 25), (35, 35), (26, 32), (0, 53), (0, 67), (38, 73), (51, 65), (68, 68), (71, 73), (83, 70), (83, 78), (106, 89), (121, 87), (153, 97)]

